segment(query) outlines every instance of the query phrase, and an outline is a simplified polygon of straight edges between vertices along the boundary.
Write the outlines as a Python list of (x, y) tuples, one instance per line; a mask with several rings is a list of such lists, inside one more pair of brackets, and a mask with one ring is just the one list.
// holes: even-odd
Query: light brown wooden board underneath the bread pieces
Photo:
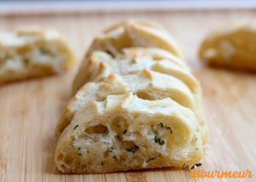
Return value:
[[(1, 16), (0, 31), (20, 26), (58, 29), (67, 36), (81, 59), (92, 38), (106, 26), (126, 18), (159, 21), (182, 44), (204, 92), (204, 108), (211, 134), (201, 160), (202, 168), (207, 171), (249, 169), (255, 173), (256, 75), (207, 68), (196, 56), (198, 45), (210, 27), (221, 22), (230, 24), (234, 20), (249, 20), (255, 15), (253, 10), (222, 10)], [(54, 129), (70, 97), (75, 71), (0, 87), (0, 181), (192, 180), (189, 171), (172, 168), (90, 175), (59, 173), (53, 158)], [(251, 181), (256, 181), (255, 175)]]

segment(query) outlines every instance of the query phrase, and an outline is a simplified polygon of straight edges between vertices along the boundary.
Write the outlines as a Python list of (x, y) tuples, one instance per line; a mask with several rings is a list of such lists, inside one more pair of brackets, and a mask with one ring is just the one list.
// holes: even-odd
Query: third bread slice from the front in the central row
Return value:
[[(199, 88), (196, 79), (191, 76), (183, 60), (160, 48), (125, 48), (119, 54), (111, 55), (104, 51), (95, 51), (82, 61), (79, 72), (73, 81), (73, 93), (85, 82), (102, 80), (110, 73), (131, 74), (143, 68), (163, 71), (176, 75), (189, 83), (189, 87)], [(198, 90), (198, 92), (200, 92)]]

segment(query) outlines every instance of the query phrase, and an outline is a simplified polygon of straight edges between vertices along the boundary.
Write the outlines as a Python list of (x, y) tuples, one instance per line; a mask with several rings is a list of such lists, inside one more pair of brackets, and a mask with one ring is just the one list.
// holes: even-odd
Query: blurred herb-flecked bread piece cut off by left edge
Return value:
[(0, 34), (0, 83), (60, 73), (74, 61), (57, 31), (24, 29)]

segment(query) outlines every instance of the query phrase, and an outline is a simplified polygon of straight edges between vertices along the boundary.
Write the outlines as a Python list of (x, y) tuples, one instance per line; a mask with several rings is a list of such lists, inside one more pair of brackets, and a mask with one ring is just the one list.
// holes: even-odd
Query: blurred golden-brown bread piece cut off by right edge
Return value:
[(208, 65), (256, 71), (256, 21), (212, 31), (201, 43), (199, 56)]

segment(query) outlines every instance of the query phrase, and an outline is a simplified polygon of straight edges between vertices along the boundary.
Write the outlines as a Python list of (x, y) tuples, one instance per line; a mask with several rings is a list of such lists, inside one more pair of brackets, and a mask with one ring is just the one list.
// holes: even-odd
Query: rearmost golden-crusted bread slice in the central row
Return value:
[(156, 47), (183, 57), (181, 48), (166, 29), (148, 20), (125, 20), (107, 28), (91, 44), (87, 55), (96, 50), (119, 54), (123, 48)]

